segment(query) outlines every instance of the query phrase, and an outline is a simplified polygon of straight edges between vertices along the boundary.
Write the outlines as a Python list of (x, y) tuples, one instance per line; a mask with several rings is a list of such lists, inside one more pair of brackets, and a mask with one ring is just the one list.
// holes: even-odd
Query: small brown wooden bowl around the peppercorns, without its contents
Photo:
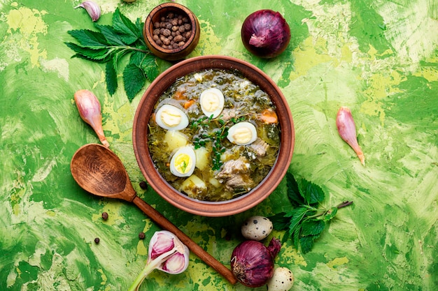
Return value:
[[(185, 41), (185, 45), (176, 49), (165, 49), (157, 45), (155, 40), (153, 40), (154, 23), (160, 22), (161, 17), (166, 17), (169, 13), (178, 13), (178, 15), (187, 16), (192, 27), (192, 34), (190, 38)], [(143, 38), (150, 52), (167, 61), (184, 59), (190, 52), (195, 50), (199, 41), (199, 34), (200, 28), (196, 15), (187, 7), (174, 2), (163, 3), (153, 8), (148, 17), (146, 17), (143, 27)]]

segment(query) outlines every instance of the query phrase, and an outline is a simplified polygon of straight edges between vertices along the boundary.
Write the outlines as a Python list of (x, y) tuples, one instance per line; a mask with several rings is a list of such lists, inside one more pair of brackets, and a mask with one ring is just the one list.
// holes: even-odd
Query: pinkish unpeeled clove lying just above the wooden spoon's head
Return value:
[(104, 134), (104, 128), (102, 128), (101, 106), (97, 97), (91, 91), (81, 89), (76, 91), (74, 99), (80, 118), (87, 124), (90, 124), (101, 143), (105, 147), (109, 147), (109, 142)]

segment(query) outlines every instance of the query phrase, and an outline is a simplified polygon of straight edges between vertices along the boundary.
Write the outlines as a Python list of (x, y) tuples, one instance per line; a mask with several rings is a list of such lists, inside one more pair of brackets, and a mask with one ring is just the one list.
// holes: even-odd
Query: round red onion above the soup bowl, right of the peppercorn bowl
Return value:
[(248, 15), (241, 29), (243, 45), (251, 53), (262, 58), (281, 54), (290, 41), (288, 22), (273, 10), (258, 10)]

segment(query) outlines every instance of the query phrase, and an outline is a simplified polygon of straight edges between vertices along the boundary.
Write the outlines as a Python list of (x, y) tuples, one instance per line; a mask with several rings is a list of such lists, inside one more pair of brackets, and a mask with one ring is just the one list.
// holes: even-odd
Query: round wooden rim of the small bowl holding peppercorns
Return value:
[[(155, 43), (153, 39), (149, 39), (148, 37), (151, 34), (150, 27), (153, 27), (153, 17), (155, 17), (155, 15), (157, 15), (158, 13), (161, 13), (161, 11), (166, 8), (174, 8), (175, 10), (183, 11), (183, 13), (185, 13), (189, 17), (190, 25), (192, 26), (192, 33), (190, 35), (190, 38), (185, 42), (182, 47), (178, 47), (176, 49), (166, 49), (164, 47), (161, 47), (160, 45), (157, 45), (157, 43)], [(147, 45), (151, 45), (158, 52), (161, 52), (162, 54), (177, 54), (178, 52), (182, 52), (183, 50), (187, 49), (193, 43), (193, 41), (196, 41), (195, 37), (197, 35), (197, 22), (198, 20), (195, 13), (193, 13), (192, 10), (183, 6), (182, 4), (173, 2), (161, 3), (155, 6), (155, 8), (153, 8), (153, 10), (151, 10), (146, 17), (145, 23), (143, 25), (143, 37), (148, 38)]]

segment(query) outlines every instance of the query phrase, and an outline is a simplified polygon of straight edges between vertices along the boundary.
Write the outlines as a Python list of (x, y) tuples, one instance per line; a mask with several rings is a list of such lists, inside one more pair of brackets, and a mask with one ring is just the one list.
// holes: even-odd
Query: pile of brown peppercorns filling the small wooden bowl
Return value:
[(173, 50), (185, 45), (192, 35), (192, 25), (187, 15), (168, 13), (154, 23), (153, 40), (160, 47)]

